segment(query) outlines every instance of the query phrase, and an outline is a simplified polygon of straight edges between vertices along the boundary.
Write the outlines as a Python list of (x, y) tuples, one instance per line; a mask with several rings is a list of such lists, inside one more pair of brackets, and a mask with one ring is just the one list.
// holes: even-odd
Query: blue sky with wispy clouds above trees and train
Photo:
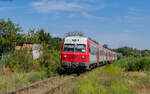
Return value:
[(80, 31), (111, 48), (150, 49), (150, 0), (0, 0), (0, 18), (25, 32), (44, 28), (64, 37)]

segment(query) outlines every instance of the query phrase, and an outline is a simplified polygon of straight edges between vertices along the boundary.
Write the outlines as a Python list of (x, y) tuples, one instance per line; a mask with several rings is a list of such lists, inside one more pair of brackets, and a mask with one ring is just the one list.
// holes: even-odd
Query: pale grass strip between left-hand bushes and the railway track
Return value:
[(21, 89), (46, 78), (43, 72), (10, 73), (0, 76), (0, 94)]

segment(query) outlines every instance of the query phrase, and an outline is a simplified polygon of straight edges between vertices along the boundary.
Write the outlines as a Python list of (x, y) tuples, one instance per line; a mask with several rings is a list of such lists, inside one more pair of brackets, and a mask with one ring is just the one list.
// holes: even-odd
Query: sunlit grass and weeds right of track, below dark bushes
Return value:
[(149, 72), (126, 71), (114, 64), (68, 81), (54, 94), (149, 94)]

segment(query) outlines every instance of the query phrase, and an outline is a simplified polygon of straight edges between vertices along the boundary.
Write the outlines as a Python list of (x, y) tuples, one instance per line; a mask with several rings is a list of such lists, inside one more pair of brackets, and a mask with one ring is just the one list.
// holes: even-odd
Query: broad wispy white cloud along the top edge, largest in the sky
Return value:
[[(86, 0), (95, 1), (95, 0)], [(96, 0), (97, 1), (97, 0)], [(78, 0), (40, 0), (31, 2), (30, 6), (37, 9), (39, 12), (52, 12), (52, 11), (89, 11), (94, 9), (103, 9), (105, 6), (92, 6), (88, 3), (79, 3)]]

